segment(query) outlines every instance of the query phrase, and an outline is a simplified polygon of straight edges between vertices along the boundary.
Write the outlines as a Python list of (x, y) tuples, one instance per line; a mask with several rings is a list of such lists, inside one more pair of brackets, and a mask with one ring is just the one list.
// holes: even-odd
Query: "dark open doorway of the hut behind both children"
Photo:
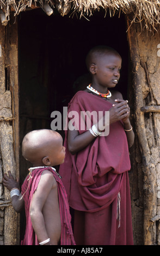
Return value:
[[(62, 112), (79, 89), (77, 78), (87, 74), (85, 56), (95, 45), (108, 45), (122, 56), (116, 87), (127, 99), (128, 43), (124, 16), (104, 18), (99, 11), (88, 17), (48, 17), (42, 9), (26, 11), (19, 20), (20, 140), (35, 129), (51, 129), (51, 113)], [(64, 136), (64, 132), (60, 131)], [(20, 153), (20, 180), (30, 164)]]

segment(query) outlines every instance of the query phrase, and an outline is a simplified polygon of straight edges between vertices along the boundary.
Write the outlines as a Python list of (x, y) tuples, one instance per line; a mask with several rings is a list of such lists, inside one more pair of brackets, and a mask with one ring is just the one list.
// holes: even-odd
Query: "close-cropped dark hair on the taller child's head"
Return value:
[(121, 58), (120, 54), (116, 50), (114, 50), (112, 47), (108, 47), (106, 45), (95, 46), (91, 48), (85, 60), (88, 70), (90, 68), (90, 65), (96, 64), (97, 60), (103, 57), (104, 54), (114, 55)]

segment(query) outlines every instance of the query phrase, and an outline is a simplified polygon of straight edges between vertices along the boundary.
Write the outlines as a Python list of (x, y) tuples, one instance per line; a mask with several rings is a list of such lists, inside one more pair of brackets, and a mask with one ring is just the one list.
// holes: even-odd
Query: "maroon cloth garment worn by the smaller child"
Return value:
[[(67, 195), (61, 179), (56, 172), (50, 167), (38, 168), (32, 171), (32, 178), (28, 180), (29, 175), (26, 180), (24, 180), (22, 185), (21, 194), (25, 203), (25, 212), (26, 212), (26, 231), (24, 239), (21, 242), (21, 245), (39, 245), (38, 239), (32, 227), (32, 222), (30, 220), (29, 208), (30, 203), (33, 197), (33, 194), (38, 187), (41, 174), (44, 170), (50, 170), (54, 178), (57, 181), (58, 186), (58, 196), (59, 196), (59, 209), (60, 209), (60, 218), (61, 218), (61, 237), (60, 245), (75, 245), (75, 240), (73, 239), (72, 227), (71, 227), (71, 215), (69, 212), (69, 204), (67, 201)], [(29, 183), (28, 183), (29, 182)], [(28, 185), (29, 184), (29, 185)]]

